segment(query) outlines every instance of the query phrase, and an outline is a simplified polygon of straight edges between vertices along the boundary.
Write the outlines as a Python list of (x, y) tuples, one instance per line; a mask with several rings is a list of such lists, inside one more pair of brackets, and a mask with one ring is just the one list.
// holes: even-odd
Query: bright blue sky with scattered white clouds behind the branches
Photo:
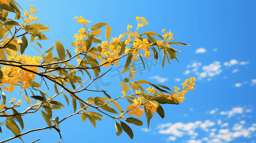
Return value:
[[(114, 121), (105, 117), (97, 121), (94, 128), (87, 119), (81, 121), (76, 115), (60, 124), (64, 142), (58, 133), (52, 129), (39, 131), (22, 136), (27, 142), (37, 138), (44, 143), (255, 143), (256, 142), (256, 65), (255, 65), (255, 32), (256, 21), (254, 0), (17, 0), (24, 10), (35, 5), (38, 22), (51, 28), (45, 32), (50, 40), (40, 41), (44, 51), (48, 50), (54, 41), (61, 41), (67, 49), (75, 39), (74, 34), (80, 30), (75, 16), (83, 16), (90, 20), (89, 26), (106, 22), (111, 26), (111, 37), (118, 37), (126, 32), (127, 25), (132, 25), (135, 31), (136, 16), (143, 16), (148, 25), (140, 32), (154, 31), (159, 34), (163, 29), (174, 34), (172, 41), (183, 42), (190, 46), (174, 45), (181, 51), (177, 61), (171, 61), (162, 70), (161, 62), (149, 57), (146, 70), (135, 74), (134, 81), (147, 80), (170, 88), (179, 86), (190, 77), (196, 78), (195, 91), (185, 96), (180, 105), (163, 105), (166, 117), (162, 120), (154, 114), (147, 130), (145, 116), (143, 126), (131, 125), (134, 139), (130, 140), (126, 133), (116, 136)], [(104, 31), (102, 29), (102, 31)], [(102, 34), (102, 39), (105, 36)], [(33, 46), (36, 43), (32, 43)], [(72, 48), (72, 47), (71, 47)], [(31, 54), (26, 49), (25, 54)], [(161, 55), (162, 56), (162, 55)], [(161, 58), (160, 56), (160, 58)], [(163, 57), (163, 56), (162, 56)], [(159, 59), (160, 59), (159, 58)], [(152, 61), (153, 60), (153, 61)], [(137, 67), (141, 66), (140, 61)], [(122, 64), (120, 64), (122, 66)], [(90, 86), (91, 89), (103, 89), (113, 96), (122, 96), (120, 80), (127, 77), (118, 74), (120, 67), (114, 67), (113, 72), (106, 74)], [(87, 79), (88, 77), (84, 77)], [(89, 81), (88, 81), (89, 83)], [(47, 89), (43, 89), (47, 90)], [(54, 89), (47, 91), (54, 92)], [(17, 91), (19, 93), (19, 91)], [(93, 94), (93, 95), (92, 95)], [(91, 92), (83, 92), (79, 96), (100, 96)], [(16, 96), (16, 95), (15, 95)], [(17, 95), (19, 96), (19, 95)], [(87, 99), (89, 96), (85, 97)], [(65, 102), (63, 97), (59, 100)], [(25, 100), (23, 100), (25, 102)], [(71, 102), (71, 101), (70, 101)], [(128, 102), (123, 102), (129, 104)], [(64, 104), (65, 112), (55, 111), (63, 119), (73, 113), (72, 105)], [(123, 107), (125, 108), (125, 107)], [(24, 124), (28, 129), (47, 126), (41, 113), (37, 117), (26, 115)], [(27, 120), (25, 120), (27, 119)], [(26, 121), (26, 122), (25, 122)], [(13, 136), (7, 130), (0, 134), (0, 140)], [(10, 143), (20, 142), (15, 139)]]

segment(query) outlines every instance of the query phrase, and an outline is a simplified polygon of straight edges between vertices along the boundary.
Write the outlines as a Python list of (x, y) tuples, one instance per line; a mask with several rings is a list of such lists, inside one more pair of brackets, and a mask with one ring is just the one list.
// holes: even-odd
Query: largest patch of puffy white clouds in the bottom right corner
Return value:
[[(229, 111), (219, 113), (231, 118), (235, 114), (243, 114), (247, 110), (245, 107), (234, 107)], [(218, 108), (211, 110), (214, 113), (217, 111)], [(158, 124), (156, 129), (159, 134), (170, 135), (165, 138), (167, 142), (180, 142), (182, 140), (184, 143), (227, 143), (234, 141), (236, 138), (249, 139), (255, 136), (256, 123), (246, 123), (245, 120), (235, 123), (222, 123), (221, 120), (213, 119), (212, 121), (205, 120), (190, 123), (163, 123)], [(199, 134), (200, 136), (198, 136)], [(189, 139), (186, 140), (186, 136), (189, 136)]]

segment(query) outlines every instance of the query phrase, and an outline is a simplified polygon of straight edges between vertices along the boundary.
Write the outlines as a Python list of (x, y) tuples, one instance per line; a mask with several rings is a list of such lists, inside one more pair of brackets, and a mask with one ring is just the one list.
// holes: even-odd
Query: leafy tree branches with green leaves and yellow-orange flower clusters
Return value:
[[(145, 80), (133, 81), (136, 75), (135, 63), (139, 58), (145, 68), (145, 58), (147, 59), (153, 54), (157, 60), (158, 53), (162, 52), (164, 56), (162, 68), (164, 68), (166, 59), (169, 64), (169, 60), (176, 59), (178, 61), (176, 52), (180, 51), (170, 45), (187, 46), (187, 44), (172, 41), (173, 33), (167, 32), (165, 29), (162, 31), (164, 33), (162, 36), (152, 31), (139, 33), (139, 30), (148, 24), (144, 17), (136, 17), (138, 25), (135, 32), (132, 31), (132, 25), (127, 25), (126, 32), (118, 37), (113, 37), (111, 40), (111, 27), (106, 23), (101, 22), (90, 26), (91, 21), (85, 20), (82, 16), (79, 19), (75, 17), (78, 24), (81, 24), (81, 28), (78, 33), (74, 34), (75, 41), (71, 43), (73, 47), (66, 49), (60, 41), (55, 41), (51, 48), (45, 50), (39, 42), (48, 39), (42, 32), (49, 31), (50, 28), (40, 23), (33, 23), (38, 21), (37, 17), (33, 16), (37, 12), (33, 10), (34, 6), (31, 5), (30, 11), (25, 10), (23, 16), (20, 6), (15, 1), (0, 1), (0, 38), (2, 40), (0, 41), (0, 132), (8, 129), (15, 135), (0, 143), (14, 138), (22, 140), (22, 136), (27, 133), (51, 128), (56, 129), (60, 134), (60, 123), (78, 114), (81, 115), (82, 121), (88, 118), (95, 127), (96, 120), (101, 121), (101, 118), (104, 118), (103, 115), (108, 116), (114, 120), (117, 129), (116, 135), (120, 135), (123, 130), (133, 139), (133, 131), (127, 123), (143, 125), (143, 122), (137, 118), (145, 113), (149, 127), (153, 113), (157, 112), (161, 118), (165, 117), (161, 104), (184, 102), (184, 95), (188, 90), (195, 90), (193, 87), (195, 85), (194, 77), (182, 83), (183, 87), (180, 89), (174, 86), (174, 92), (165, 85), (153, 84)], [(7, 18), (9, 12), (16, 14), (14, 20)], [(18, 20), (22, 20), (22, 22), (19, 23)], [(98, 37), (103, 27), (106, 31), (105, 41), (101, 41), (102, 38)], [(10, 38), (7, 38), (8, 35)], [(37, 44), (37, 46), (31, 45), (31, 47), (41, 54), (24, 54), (28, 51), (28, 35), (30, 35), (30, 43), (35, 42)], [(53, 50), (56, 50), (57, 55), (54, 55)], [(102, 78), (103, 75), (112, 70), (113, 66), (119, 65), (121, 59), (125, 60), (125, 58), (122, 74), (126, 73), (127, 78), (120, 83), (122, 92), (119, 93), (119, 97), (112, 98), (113, 96), (104, 90), (89, 89), (95, 80)], [(93, 76), (96, 78), (93, 79)], [(88, 79), (91, 82), (87, 84)], [(144, 84), (149, 85), (149, 87)], [(43, 91), (45, 86), (48, 91)], [(21, 90), (21, 96), (14, 97), (11, 93), (17, 90)], [(53, 90), (56, 94), (51, 92)], [(145, 90), (148, 92), (146, 93)], [(4, 91), (9, 94), (5, 95)], [(87, 97), (78, 94), (83, 92), (90, 92), (90, 94), (86, 95)], [(102, 95), (107, 97), (96, 97), (91, 92), (102, 92)], [(69, 94), (70, 97), (66, 94)], [(58, 115), (52, 112), (53, 110), (64, 110), (62, 109), (64, 108), (63, 101), (57, 99), (57, 96), (64, 96), (67, 105), (72, 100), (74, 109), (74, 113), (60, 122)], [(19, 101), (16, 104), (14, 104), (15, 98)], [(118, 103), (123, 99), (126, 99), (129, 104)], [(11, 101), (7, 102), (8, 100)], [(25, 102), (28, 104), (25, 105)], [(77, 102), (80, 105), (78, 111)], [(27, 107), (27, 109), (18, 112), (21, 107)], [(125, 110), (123, 110), (124, 108)], [(34, 116), (42, 114), (48, 127), (22, 133), (21, 129), (23, 130), (25, 127), (23, 119), (28, 113), (33, 113)], [(119, 116), (114, 116), (114, 114)], [(137, 118), (131, 117), (133, 115)]]

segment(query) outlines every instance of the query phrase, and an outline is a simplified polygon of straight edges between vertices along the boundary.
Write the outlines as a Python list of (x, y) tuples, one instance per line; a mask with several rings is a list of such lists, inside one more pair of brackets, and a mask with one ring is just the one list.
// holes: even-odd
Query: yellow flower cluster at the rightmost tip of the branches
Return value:
[(195, 85), (195, 81), (196, 81), (195, 77), (191, 77), (190, 80), (187, 79), (184, 83), (181, 83), (181, 85), (183, 85), (183, 88), (181, 90), (182, 92), (177, 92), (179, 90), (179, 88), (174, 86), (174, 89), (175, 89), (174, 94), (170, 95), (168, 97), (168, 99), (172, 100), (171, 97), (173, 97), (173, 98), (176, 98), (178, 100), (178, 102), (180, 102), (180, 101), (184, 102), (184, 100), (185, 100), (184, 95), (188, 92), (187, 90), (189, 90), (189, 91), (191, 89), (195, 90), (195, 88), (193, 87), (193, 85)]

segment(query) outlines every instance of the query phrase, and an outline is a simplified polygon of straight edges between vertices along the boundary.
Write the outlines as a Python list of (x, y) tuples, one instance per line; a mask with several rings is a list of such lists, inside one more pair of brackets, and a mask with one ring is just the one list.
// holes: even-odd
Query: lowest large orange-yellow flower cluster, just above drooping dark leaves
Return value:
[[(140, 92), (136, 91), (136, 93), (139, 94)], [(141, 97), (141, 96), (137, 97), (137, 99), (136, 98), (134, 99), (134, 103), (132, 105), (127, 106), (127, 112), (129, 115), (135, 114), (136, 117), (138, 117), (138, 118), (141, 117), (141, 115), (144, 112), (144, 109), (140, 109), (139, 106), (142, 106), (142, 107), (146, 106), (146, 108), (148, 110), (150, 110), (153, 113), (156, 113), (157, 106), (153, 106), (150, 102), (144, 103), (142, 100), (145, 101), (145, 99), (143, 97)]]

